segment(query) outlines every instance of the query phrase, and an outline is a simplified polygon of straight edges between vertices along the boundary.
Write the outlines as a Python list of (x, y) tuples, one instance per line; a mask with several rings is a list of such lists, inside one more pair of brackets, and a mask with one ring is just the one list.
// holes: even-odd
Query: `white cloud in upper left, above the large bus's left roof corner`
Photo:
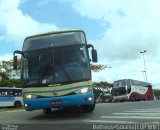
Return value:
[(21, 0), (0, 0), (0, 31), (6, 41), (22, 44), (26, 36), (59, 30), (54, 24), (40, 23), (24, 14), (19, 6)]

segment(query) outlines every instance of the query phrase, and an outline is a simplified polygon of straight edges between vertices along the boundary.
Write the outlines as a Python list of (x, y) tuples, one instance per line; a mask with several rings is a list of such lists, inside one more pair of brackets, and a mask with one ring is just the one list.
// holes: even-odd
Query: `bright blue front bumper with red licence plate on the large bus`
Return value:
[(64, 108), (91, 105), (94, 103), (93, 92), (85, 94), (75, 94), (69, 96), (59, 96), (50, 98), (24, 99), (25, 109), (27, 111), (45, 109), (45, 108)]

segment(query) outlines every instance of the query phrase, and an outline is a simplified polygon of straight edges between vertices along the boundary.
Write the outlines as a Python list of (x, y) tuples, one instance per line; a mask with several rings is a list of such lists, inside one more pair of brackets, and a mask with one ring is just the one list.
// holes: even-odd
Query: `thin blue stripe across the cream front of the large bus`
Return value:
[(85, 86), (76, 86), (72, 88), (65, 88), (61, 90), (49, 90), (49, 91), (28, 91), (28, 92), (23, 92), (24, 94), (26, 93), (50, 93), (50, 92), (62, 92), (62, 91), (67, 91), (67, 90), (72, 90), (72, 89), (77, 89), (77, 88), (83, 88), (83, 87), (91, 87), (92, 85), (85, 85)]

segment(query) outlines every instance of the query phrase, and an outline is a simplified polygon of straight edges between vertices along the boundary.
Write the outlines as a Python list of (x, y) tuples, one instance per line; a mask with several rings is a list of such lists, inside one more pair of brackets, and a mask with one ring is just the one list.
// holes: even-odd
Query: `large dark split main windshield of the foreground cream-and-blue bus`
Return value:
[(24, 53), (24, 86), (65, 84), (91, 79), (87, 51), (83, 45), (46, 48)]

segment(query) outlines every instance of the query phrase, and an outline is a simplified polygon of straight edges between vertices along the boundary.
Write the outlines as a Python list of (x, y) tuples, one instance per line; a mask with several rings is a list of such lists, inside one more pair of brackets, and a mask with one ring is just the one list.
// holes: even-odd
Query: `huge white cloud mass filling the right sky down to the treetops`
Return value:
[(147, 50), (148, 82), (160, 87), (159, 5), (159, 0), (79, 0), (73, 3), (81, 16), (103, 20), (109, 26), (102, 38), (91, 39), (90, 43), (97, 48), (100, 63), (112, 66), (112, 69), (93, 72), (93, 80), (144, 80), (143, 59), (139, 52)]

